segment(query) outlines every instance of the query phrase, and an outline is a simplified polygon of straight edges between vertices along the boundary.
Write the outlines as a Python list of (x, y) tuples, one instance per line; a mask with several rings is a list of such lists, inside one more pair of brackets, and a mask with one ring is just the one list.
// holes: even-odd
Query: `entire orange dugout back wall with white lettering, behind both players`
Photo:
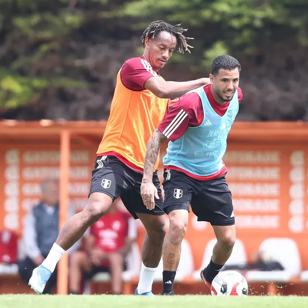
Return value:
[[(96, 145), (71, 145), (69, 194), (77, 211), (86, 203), (96, 149)], [(59, 159), (59, 146), (47, 142), (1, 145), (0, 229), (22, 231), (25, 214), (40, 198), (41, 180), (58, 177)], [(299, 247), (302, 268), (308, 269), (308, 146), (230, 141), (224, 161), (237, 237), (244, 242), (248, 257), (267, 237), (291, 237)], [(139, 243), (143, 235), (140, 228)], [(191, 212), (186, 239), (196, 269), (213, 237), (210, 225), (197, 222)]]

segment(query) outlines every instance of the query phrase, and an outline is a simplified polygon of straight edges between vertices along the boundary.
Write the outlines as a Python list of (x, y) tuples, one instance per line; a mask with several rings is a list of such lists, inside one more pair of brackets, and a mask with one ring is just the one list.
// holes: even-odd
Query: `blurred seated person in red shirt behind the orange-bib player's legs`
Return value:
[(90, 235), (85, 238), (85, 251), (72, 254), (69, 268), (71, 294), (80, 293), (83, 275), (90, 279), (99, 272), (109, 271), (112, 294), (122, 293), (125, 256), (136, 240), (137, 226), (134, 218), (120, 206), (121, 199), (118, 198), (107, 213), (90, 227)]

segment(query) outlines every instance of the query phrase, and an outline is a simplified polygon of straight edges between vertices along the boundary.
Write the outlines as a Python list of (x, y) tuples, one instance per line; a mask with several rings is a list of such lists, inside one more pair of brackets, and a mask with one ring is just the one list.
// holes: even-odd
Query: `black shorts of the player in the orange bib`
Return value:
[(143, 173), (130, 169), (115, 156), (98, 156), (92, 170), (89, 196), (94, 192), (100, 192), (110, 196), (113, 201), (121, 197), (135, 219), (138, 219), (137, 213), (164, 215), (157, 172), (153, 174), (153, 183), (158, 190), (159, 199), (155, 199), (155, 207), (152, 210), (146, 208), (141, 198), (142, 177)]

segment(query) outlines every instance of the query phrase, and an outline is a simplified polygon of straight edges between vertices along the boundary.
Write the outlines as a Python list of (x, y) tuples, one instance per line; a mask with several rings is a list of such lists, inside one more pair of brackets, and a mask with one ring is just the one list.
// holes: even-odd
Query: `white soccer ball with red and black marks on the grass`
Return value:
[(243, 275), (236, 271), (222, 271), (217, 274), (211, 284), (213, 296), (247, 296), (248, 284)]

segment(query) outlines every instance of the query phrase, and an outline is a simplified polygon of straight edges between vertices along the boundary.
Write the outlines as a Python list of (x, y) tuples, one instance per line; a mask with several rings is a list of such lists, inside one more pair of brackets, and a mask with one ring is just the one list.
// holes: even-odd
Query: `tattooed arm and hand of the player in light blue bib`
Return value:
[(148, 142), (140, 189), (143, 203), (148, 209), (153, 209), (155, 207), (155, 198), (159, 198), (157, 188), (153, 184), (153, 172), (161, 144), (166, 139), (161, 131), (156, 129)]

